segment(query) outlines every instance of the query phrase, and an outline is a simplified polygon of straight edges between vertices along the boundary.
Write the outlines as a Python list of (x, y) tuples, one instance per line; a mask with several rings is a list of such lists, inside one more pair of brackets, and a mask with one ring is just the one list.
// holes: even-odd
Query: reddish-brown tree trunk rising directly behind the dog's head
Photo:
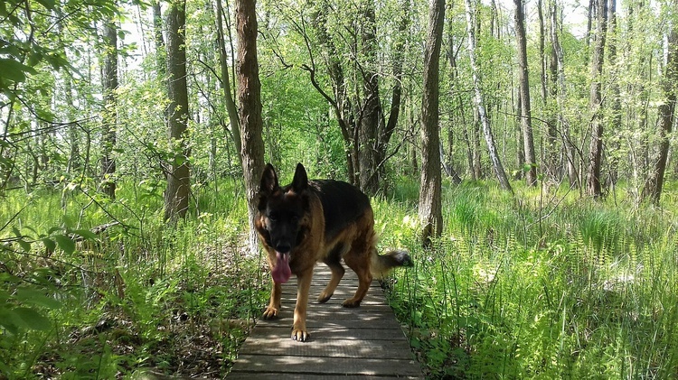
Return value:
[(250, 253), (259, 251), (254, 218), (257, 214), (259, 180), (264, 171), (263, 121), (261, 119), (261, 83), (257, 60), (257, 8), (254, 0), (236, 1), (238, 30), (238, 102), (242, 139), (242, 172), (245, 177), (250, 221)]

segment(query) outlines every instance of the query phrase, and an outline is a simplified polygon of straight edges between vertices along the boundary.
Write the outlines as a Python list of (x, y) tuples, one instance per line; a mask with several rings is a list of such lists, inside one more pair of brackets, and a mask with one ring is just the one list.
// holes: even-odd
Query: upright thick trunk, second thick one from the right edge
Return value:
[(596, 18), (596, 36), (591, 58), (591, 141), (589, 145), (589, 170), (587, 172), (587, 192), (594, 198), (603, 195), (600, 181), (600, 169), (603, 155), (603, 123), (601, 94), (603, 80), (603, 60), (605, 60), (605, 37), (607, 32), (607, 0), (598, 0)]

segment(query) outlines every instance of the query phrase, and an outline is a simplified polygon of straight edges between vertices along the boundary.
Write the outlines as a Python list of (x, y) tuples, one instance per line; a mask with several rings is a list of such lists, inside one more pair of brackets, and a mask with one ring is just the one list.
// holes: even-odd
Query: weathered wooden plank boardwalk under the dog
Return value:
[(318, 303), (329, 277), (325, 264), (315, 266), (306, 318), (310, 338), (290, 338), (297, 299), (297, 279), (291, 278), (283, 285), (278, 319), (257, 322), (228, 379), (423, 378), (379, 283), (372, 282), (359, 308), (346, 309), (342, 301), (358, 286), (355, 273), (347, 268), (332, 299)]

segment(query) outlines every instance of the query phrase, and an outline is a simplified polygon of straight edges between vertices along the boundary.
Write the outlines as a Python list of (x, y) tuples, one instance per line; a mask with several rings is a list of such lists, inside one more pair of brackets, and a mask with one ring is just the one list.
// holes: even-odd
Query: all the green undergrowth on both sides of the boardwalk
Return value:
[[(268, 298), (241, 184), (195, 185), (176, 226), (162, 181), (119, 183), (115, 201), (92, 189), (0, 202), (0, 378), (227, 374)], [(678, 197), (617, 191), (446, 184), (429, 249), (416, 184), (372, 199), (381, 250), (414, 260), (386, 284), (427, 377), (678, 376)]]

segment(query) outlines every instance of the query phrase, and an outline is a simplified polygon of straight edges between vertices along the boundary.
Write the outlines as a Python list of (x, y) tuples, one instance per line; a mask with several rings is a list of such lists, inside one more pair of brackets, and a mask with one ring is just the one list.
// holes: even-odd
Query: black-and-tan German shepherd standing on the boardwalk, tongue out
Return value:
[(297, 306), (292, 339), (305, 341), (306, 305), (316, 262), (327, 264), (332, 276), (318, 302), (328, 301), (344, 276), (341, 259), (358, 275), (358, 290), (344, 307), (360, 306), (372, 277), (381, 277), (397, 266), (409, 266), (410, 255), (391, 251), (378, 255), (377, 235), (370, 199), (343, 181), (308, 181), (306, 169), (297, 164), (292, 183), (280, 187), (278, 175), (268, 163), (261, 175), (259, 212), (255, 227), (268, 253), (273, 289), (264, 319), (278, 316), (282, 283), (297, 275)]

